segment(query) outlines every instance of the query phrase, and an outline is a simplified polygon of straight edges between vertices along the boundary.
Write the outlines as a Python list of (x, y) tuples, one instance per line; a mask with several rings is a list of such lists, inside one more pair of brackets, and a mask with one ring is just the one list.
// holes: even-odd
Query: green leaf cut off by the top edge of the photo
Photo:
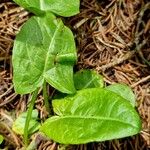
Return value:
[(18, 5), (28, 9), (36, 15), (44, 12), (69, 17), (79, 13), (80, 0), (14, 0)]

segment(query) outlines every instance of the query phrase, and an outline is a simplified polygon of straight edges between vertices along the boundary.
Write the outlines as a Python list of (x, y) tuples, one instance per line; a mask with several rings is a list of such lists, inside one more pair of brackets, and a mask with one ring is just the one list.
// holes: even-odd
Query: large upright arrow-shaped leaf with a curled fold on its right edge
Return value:
[(30, 18), (14, 42), (15, 91), (31, 93), (46, 80), (63, 93), (74, 93), (73, 64), (76, 60), (73, 34), (61, 20), (51, 13)]

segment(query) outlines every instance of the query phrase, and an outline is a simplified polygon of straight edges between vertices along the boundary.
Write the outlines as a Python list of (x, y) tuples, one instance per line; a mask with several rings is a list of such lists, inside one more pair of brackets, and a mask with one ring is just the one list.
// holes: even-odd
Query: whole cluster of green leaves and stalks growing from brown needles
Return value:
[[(77, 61), (73, 33), (56, 15), (77, 14), (79, 0), (14, 1), (36, 15), (17, 34), (12, 56), (16, 93), (32, 93), (27, 114), (22, 114), (13, 125), (15, 132), (20, 128), (18, 134), (24, 134), (26, 146), (28, 134), (40, 126), (32, 130), (37, 125), (33, 108), (41, 87), (47, 111), (51, 112), (47, 83), (65, 93), (52, 100), (55, 115), (40, 127), (40, 132), (50, 139), (62, 144), (81, 144), (137, 134), (141, 121), (128, 86), (104, 87), (102, 76), (95, 71), (82, 70), (73, 75)], [(19, 122), (23, 122), (22, 126)]]

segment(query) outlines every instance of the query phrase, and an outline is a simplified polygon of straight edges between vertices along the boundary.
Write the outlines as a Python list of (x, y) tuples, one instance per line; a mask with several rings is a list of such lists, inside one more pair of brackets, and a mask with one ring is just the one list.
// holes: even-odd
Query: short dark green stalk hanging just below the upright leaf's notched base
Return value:
[(48, 113), (51, 113), (50, 105), (49, 105), (49, 98), (47, 95), (47, 88), (46, 88), (46, 82), (43, 84), (43, 97), (44, 97), (44, 102), (45, 102), (45, 107)]

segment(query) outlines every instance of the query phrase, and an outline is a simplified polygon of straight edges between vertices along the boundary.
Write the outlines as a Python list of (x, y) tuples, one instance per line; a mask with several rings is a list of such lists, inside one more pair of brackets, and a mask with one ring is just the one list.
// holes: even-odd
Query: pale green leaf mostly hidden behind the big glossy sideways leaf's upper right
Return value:
[(133, 107), (135, 107), (135, 95), (129, 86), (117, 83), (107, 86), (106, 89), (122, 96), (124, 99), (128, 100)]

